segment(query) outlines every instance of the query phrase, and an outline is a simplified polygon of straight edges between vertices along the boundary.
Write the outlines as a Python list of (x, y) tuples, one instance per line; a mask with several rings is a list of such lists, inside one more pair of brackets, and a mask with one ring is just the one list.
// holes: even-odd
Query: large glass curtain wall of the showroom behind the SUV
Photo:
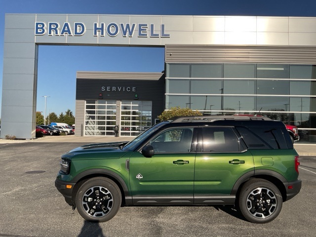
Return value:
[(166, 109), (260, 113), (298, 126), (302, 140), (316, 135), (316, 65), (167, 63), (165, 99)]

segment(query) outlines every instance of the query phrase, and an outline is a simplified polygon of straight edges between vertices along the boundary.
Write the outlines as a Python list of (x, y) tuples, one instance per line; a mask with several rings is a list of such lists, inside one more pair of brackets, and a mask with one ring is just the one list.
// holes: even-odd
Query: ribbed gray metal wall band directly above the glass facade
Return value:
[(166, 45), (165, 61), (316, 64), (316, 47)]

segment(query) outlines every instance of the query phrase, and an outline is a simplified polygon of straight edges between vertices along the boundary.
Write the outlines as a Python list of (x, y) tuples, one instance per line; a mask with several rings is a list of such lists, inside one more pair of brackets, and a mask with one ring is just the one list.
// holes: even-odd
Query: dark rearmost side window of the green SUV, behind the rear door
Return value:
[(287, 149), (283, 132), (279, 128), (236, 128), (250, 150)]

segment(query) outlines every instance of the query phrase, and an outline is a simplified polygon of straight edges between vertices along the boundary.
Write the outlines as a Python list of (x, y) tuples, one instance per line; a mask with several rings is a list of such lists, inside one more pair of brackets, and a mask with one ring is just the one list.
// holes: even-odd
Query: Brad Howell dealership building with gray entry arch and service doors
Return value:
[(282, 120), (316, 141), (314, 17), (7, 14), (1, 138), (35, 138), (39, 45), (165, 49), (163, 72), (74, 73), (76, 135), (118, 125), (136, 136), (163, 110), (189, 107)]

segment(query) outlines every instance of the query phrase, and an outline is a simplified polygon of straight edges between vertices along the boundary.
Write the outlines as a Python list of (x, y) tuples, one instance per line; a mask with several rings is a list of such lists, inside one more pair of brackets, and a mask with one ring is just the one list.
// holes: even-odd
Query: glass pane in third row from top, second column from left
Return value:
[(221, 96), (191, 96), (191, 103), (193, 110), (221, 110)]

